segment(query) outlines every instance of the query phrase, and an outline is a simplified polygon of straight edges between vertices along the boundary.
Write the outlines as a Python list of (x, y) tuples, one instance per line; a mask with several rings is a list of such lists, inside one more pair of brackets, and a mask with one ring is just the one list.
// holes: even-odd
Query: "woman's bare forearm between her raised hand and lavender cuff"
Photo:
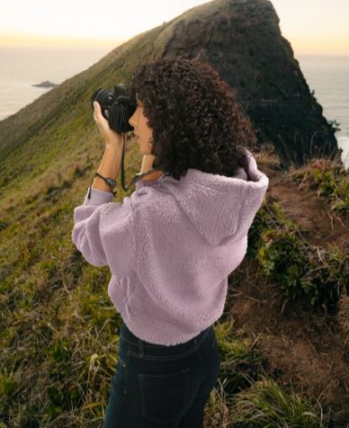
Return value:
[[(122, 144), (114, 144), (105, 147), (101, 165), (99, 166), (97, 172), (103, 175), (103, 177), (110, 177), (114, 180), (117, 180), (121, 169), (121, 156)], [(104, 180), (98, 176), (94, 178), (94, 183), (92, 184), (92, 187), (101, 191), (111, 192), (111, 188), (108, 186), (108, 184), (105, 183)]]

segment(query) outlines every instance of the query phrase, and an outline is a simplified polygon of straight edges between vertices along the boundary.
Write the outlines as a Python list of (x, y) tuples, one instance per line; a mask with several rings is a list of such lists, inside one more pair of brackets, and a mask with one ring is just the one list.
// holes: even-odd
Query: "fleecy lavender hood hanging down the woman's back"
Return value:
[[(164, 176), (166, 188), (200, 235), (211, 245), (247, 235), (255, 213), (264, 201), (268, 177), (258, 170), (255, 157), (246, 149), (247, 167), (233, 177), (189, 168), (177, 181)], [(148, 182), (151, 183), (151, 182)]]

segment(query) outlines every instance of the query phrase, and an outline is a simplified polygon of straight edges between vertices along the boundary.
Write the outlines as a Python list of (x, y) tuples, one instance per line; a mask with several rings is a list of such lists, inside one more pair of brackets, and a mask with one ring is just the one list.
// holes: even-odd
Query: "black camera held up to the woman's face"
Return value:
[(120, 134), (133, 130), (129, 119), (137, 109), (135, 101), (130, 100), (126, 86), (114, 85), (114, 89), (99, 88), (91, 97), (91, 107), (94, 110), (94, 101), (101, 105), (103, 117), (108, 120), (109, 128)]

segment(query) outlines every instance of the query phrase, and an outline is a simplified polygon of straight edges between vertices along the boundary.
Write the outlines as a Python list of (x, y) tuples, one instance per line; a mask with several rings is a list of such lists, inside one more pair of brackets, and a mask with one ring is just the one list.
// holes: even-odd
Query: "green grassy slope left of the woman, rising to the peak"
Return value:
[[(77, 406), (89, 401), (85, 387), (108, 388), (104, 376), (115, 366), (119, 322), (105, 287), (110, 273), (85, 263), (71, 240), (73, 210), (103, 155), (90, 97), (98, 87), (127, 81), (139, 62), (160, 56), (171, 31), (168, 23), (140, 34), (0, 125), (0, 407), (6, 413), (14, 394), (19, 408), (3, 415), (13, 426), (35, 426), (34, 415), (45, 424), (69, 400)], [(131, 144), (126, 183), (140, 163), (138, 146)], [(117, 200), (124, 196), (119, 186)], [(104, 368), (100, 386), (85, 376), (94, 353)], [(103, 394), (97, 396), (101, 410)]]

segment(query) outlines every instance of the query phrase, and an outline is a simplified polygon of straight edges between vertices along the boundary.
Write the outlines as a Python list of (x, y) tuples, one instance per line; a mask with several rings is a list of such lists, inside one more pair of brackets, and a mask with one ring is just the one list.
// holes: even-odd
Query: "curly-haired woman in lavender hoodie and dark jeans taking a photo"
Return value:
[[(87, 262), (110, 266), (123, 320), (103, 427), (199, 428), (219, 377), (212, 325), (269, 181), (246, 149), (249, 120), (210, 65), (160, 59), (136, 69), (129, 92), (142, 172), (159, 171), (122, 202), (96, 177), (72, 234)], [(98, 104), (94, 118), (107, 146), (99, 171), (116, 179), (121, 135)]]

